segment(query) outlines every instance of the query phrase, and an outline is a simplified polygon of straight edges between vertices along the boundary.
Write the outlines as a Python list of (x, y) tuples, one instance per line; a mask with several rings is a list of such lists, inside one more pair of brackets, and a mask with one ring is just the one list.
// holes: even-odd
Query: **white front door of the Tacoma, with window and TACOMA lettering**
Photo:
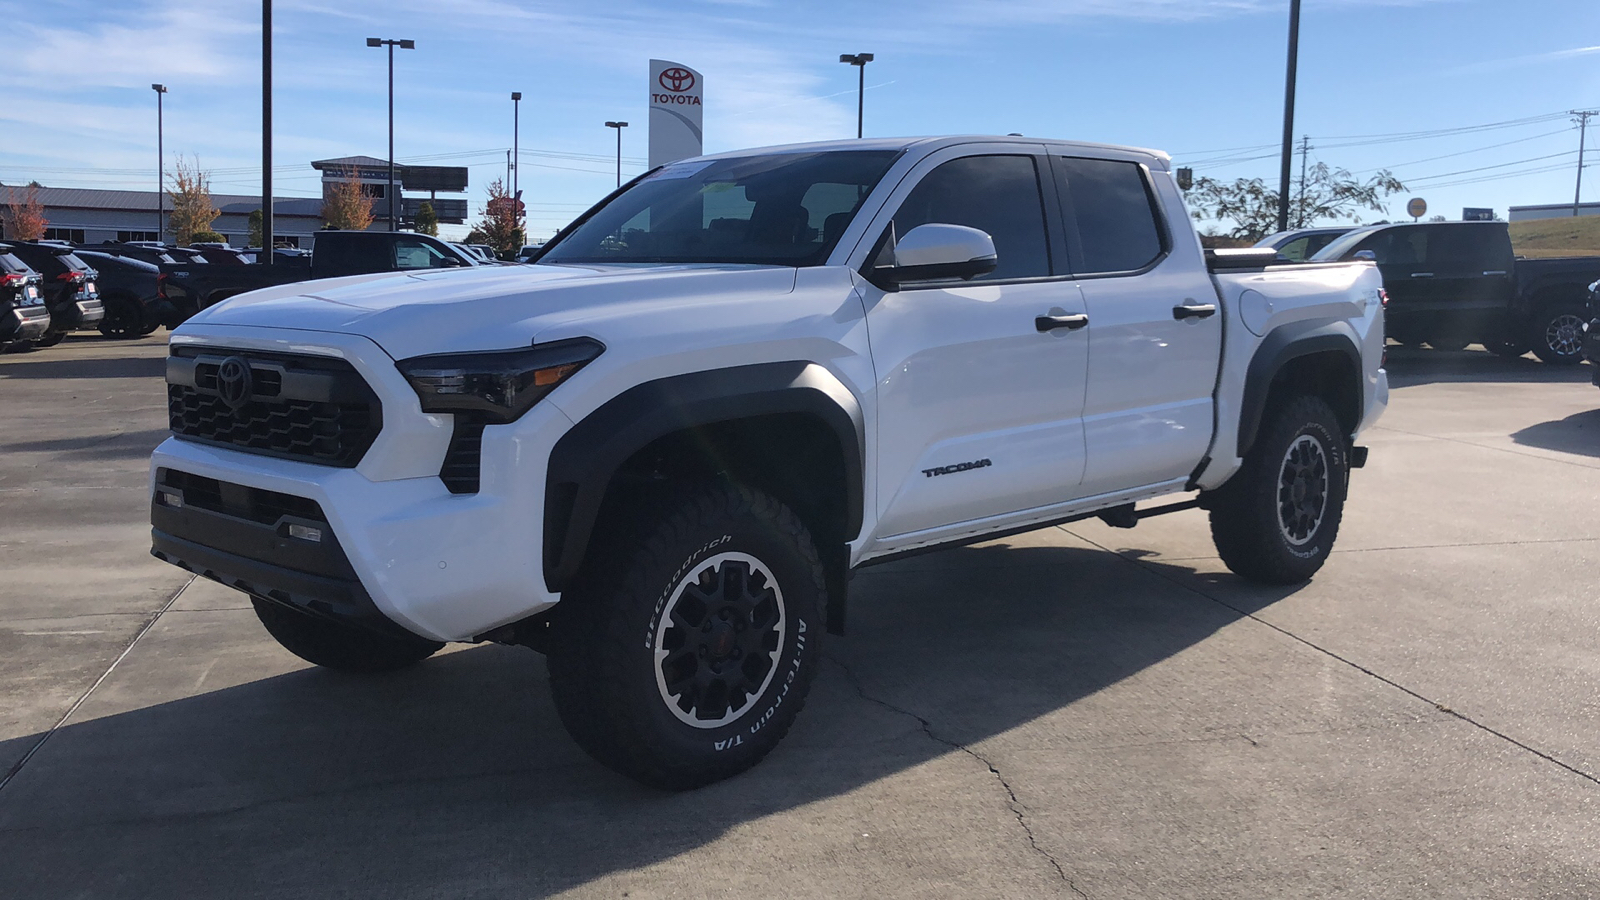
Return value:
[(987, 232), (998, 267), (898, 291), (862, 285), (883, 544), (1070, 500), (1083, 477), (1083, 298), (1053, 266), (1050, 170), (1006, 151), (936, 154), (886, 205), (894, 234), (926, 223)]

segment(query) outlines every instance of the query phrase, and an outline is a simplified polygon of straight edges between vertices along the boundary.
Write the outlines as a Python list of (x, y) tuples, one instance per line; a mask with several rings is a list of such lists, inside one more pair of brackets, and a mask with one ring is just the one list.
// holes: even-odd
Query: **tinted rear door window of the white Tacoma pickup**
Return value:
[(1165, 229), (1144, 167), (1123, 160), (1058, 157), (1062, 210), (1078, 275), (1134, 272), (1166, 251)]

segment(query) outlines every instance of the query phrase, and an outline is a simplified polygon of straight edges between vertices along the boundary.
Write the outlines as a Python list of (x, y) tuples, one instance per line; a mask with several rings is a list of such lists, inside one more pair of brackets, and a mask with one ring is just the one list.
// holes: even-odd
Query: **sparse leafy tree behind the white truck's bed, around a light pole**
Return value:
[[(1358, 211), (1386, 211), (1382, 199), (1405, 191), (1389, 170), (1366, 181), (1358, 181), (1342, 168), (1317, 163), (1306, 171), (1304, 181), (1293, 184), (1290, 197), (1290, 227), (1307, 227), (1318, 219), (1354, 219), (1362, 223)], [(1184, 194), (1195, 219), (1232, 223), (1224, 231), (1227, 237), (1256, 242), (1277, 231), (1278, 192), (1259, 178), (1240, 178), (1234, 183), (1198, 178)]]

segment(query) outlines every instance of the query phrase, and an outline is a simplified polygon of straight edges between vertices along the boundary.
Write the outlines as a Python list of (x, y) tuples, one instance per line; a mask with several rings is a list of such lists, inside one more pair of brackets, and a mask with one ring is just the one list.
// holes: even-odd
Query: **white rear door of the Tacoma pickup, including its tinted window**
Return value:
[(1088, 304), (1083, 495), (1181, 479), (1211, 444), (1222, 354), (1216, 288), (1174, 247), (1158, 184), (1133, 160), (1054, 157), (1072, 271)]

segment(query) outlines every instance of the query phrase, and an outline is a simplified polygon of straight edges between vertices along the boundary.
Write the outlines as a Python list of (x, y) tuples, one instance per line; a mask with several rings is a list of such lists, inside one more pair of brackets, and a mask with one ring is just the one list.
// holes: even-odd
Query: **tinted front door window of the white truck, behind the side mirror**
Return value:
[(930, 223), (976, 227), (994, 239), (998, 266), (974, 282), (1051, 274), (1045, 197), (1034, 157), (962, 157), (939, 165), (894, 213), (894, 234)]

